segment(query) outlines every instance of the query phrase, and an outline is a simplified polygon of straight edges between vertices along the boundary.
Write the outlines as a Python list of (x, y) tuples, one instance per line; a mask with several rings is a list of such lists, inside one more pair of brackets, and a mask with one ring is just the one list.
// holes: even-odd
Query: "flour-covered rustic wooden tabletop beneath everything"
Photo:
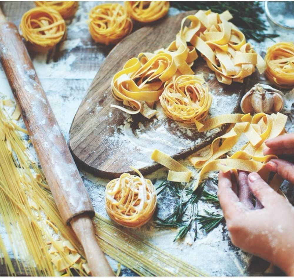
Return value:
[[(111, 50), (110, 46), (95, 44), (88, 32), (87, 13), (99, 3), (101, 2), (80, 2), (74, 19), (67, 21), (66, 40), (49, 51), (48, 54), (30, 52), (36, 72), (67, 141), (69, 139), (69, 128), (76, 110), (99, 67)], [(35, 6), (32, 1), (3, 1), (0, 5), (8, 19), (17, 26), (24, 12)], [(177, 9), (171, 8), (169, 15), (178, 12)], [(136, 26), (135, 29), (138, 27)], [(293, 41), (293, 34), (281, 34), (276, 39), (277, 42), (283, 40)], [(261, 44), (252, 43), (259, 53), (264, 54), (267, 46), (273, 44), (273, 41), (266, 40)], [(248, 82), (248, 88), (260, 80), (264, 81), (265, 79), (258, 74), (253, 75)], [(1, 66), (0, 84), (0, 92), (12, 97)], [(84, 171), (81, 171), (81, 175), (95, 210), (107, 217), (104, 209), (104, 186), (107, 180), (93, 177)], [(160, 177), (166, 177), (166, 172), (158, 170), (149, 178), (156, 180)], [(292, 190), (288, 190), (287, 196), (293, 200)], [(263, 260), (252, 259), (250, 255), (233, 247), (225, 225), (220, 225), (208, 235), (199, 232), (199, 239), (192, 243), (189, 240), (173, 243), (176, 231), (155, 231), (149, 226), (138, 229), (136, 233), (212, 276), (256, 275), (261, 274), (268, 266), (268, 263)], [(116, 269), (117, 262), (109, 257), (108, 259), (113, 268)], [(124, 267), (122, 267), (121, 273), (124, 276), (135, 275)], [(0, 265), (0, 275), (5, 274), (5, 266)], [(280, 274), (280, 272), (276, 272), (276, 274)]]

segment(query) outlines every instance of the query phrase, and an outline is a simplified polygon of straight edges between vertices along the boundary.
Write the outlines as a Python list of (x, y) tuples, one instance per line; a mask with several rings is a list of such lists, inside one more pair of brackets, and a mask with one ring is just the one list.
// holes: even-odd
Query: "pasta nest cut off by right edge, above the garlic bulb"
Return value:
[(268, 48), (265, 55), (266, 77), (281, 88), (294, 86), (294, 44), (280, 42)]

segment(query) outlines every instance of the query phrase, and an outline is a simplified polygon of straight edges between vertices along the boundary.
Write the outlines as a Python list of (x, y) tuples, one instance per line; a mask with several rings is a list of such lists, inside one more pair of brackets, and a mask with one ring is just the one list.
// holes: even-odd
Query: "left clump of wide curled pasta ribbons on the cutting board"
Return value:
[(111, 105), (128, 114), (141, 113), (150, 119), (157, 111), (153, 110), (154, 103), (164, 89), (164, 83), (170, 81), (173, 75), (193, 74), (191, 66), (197, 59), (195, 49), (187, 46), (181, 30), (167, 49), (158, 49), (154, 53), (140, 53), (131, 58), (123, 69), (113, 76), (111, 81), (112, 94), (115, 99), (133, 110), (118, 105)]

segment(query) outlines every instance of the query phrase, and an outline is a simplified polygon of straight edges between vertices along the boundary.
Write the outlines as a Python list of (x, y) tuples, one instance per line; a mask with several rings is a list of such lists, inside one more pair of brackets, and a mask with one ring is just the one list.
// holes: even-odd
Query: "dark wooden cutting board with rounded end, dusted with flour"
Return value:
[[(148, 174), (161, 167), (151, 160), (154, 149), (181, 159), (223, 133), (224, 126), (204, 133), (199, 133), (196, 128), (186, 128), (167, 118), (159, 102), (156, 109), (160, 113), (152, 119), (146, 119), (141, 114), (131, 116), (110, 107), (110, 104), (122, 105), (111, 94), (113, 75), (122, 69), (128, 59), (140, 52), (153, 52), (167, 47), (175, 39), (181, 20), (193, 13), (189, 11), (166, 17), (138, 29), (108, 54), (71, 125), (69, 147), (79, 166), (109, 179), (130, 172), (129, 166), (139, 169), (142, 174)], [(202, 58), (195, 61), (192, 69), (195, 74), (204, 74), (213, 94), (209, 116), (235, 113), (238, 110), (245, 84), (220, 84)]]

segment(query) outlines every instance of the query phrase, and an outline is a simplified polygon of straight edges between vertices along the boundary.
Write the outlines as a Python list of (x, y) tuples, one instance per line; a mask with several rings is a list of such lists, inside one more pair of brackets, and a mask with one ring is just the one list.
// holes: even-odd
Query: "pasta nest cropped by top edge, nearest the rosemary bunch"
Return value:
[(126, 1), (125, 7), (132, 19), (146, 23), (165, 16), (169, 1)]

